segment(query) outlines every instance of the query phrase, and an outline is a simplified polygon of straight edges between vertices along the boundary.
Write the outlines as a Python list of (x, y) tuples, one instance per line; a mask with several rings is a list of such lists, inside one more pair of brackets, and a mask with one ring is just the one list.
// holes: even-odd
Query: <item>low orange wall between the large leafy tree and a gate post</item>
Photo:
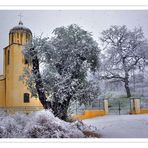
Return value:
[(106, 115), (106, 112), (104, 110), (86, 110), (82, 115), (72, 116), (72, 119), (84, 120), (84, 119), (89, 119), (89, 118), (94, 118), (94, 117), (99, 117), (104, 115)]

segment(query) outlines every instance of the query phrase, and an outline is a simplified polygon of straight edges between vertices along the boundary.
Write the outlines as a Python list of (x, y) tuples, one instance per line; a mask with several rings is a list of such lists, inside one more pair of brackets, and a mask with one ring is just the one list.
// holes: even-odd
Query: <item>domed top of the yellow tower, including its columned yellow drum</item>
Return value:
[(18, 25), (13, 27), (9, 31), (9, 44), (22, 44), (25, 45), (32, 38), (32, 32), (29, 28), (23, 25), (23, 22), (20, 20)]

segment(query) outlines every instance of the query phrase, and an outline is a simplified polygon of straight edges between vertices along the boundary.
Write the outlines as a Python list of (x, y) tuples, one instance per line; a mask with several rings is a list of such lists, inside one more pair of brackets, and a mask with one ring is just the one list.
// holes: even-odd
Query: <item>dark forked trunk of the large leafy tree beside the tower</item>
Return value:
[(70, 103), (72, 96), (69, 95), (67, 99), (63, 101), (62, 103), (59, 102), (60, 98), (57, 98), (56, 96), (54, 96), (54, 102), (51, 103), (50, 101), (46, 101), (47, 97), (45, 95), (45, 90), (44, 90), (41, 74), (39, 71), (39, 60), (38, 60), (37, 54), (34, 51), (34, 49), (32, 48), (30, 50), (31, 50), (32, 57), (33, 57), (32, 58), (32, 72), (35, 76), (35, 87), (36, 87), (41, 104), (43, 105), (44, 109), (52, 109), (53, 114), (55, 116), (59, 117), (62, 120), (66, 120), (67, 110), (68, 110), (69, 103)]

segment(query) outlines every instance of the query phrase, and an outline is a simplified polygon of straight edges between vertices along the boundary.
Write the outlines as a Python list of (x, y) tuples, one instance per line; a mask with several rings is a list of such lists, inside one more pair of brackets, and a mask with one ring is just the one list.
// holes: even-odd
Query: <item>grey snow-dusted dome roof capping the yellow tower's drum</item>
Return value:
[(24, 32), (29, 32), (29, 33), (32, 34), (31, 30), (30, 30), (29, 28), (25, 27), (25, 26), (23, 25), (23, 22), (22, 22), (22, 21), (19, 21), (19, 24), (18, 24), (17, 26), (13, 27), (13, 28), (10, 30), (9, 34), (10, 34), (10, 33), (15, 33), (15, 32), (17, 32), (17, 31), (24, 31)]

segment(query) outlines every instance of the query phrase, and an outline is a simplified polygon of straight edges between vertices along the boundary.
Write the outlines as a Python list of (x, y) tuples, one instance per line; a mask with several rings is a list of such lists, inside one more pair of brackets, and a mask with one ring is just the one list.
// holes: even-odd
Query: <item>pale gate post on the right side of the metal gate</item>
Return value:
[(133, 98), (131, 99), (131, 113), (140, 114), (140, 99)]

